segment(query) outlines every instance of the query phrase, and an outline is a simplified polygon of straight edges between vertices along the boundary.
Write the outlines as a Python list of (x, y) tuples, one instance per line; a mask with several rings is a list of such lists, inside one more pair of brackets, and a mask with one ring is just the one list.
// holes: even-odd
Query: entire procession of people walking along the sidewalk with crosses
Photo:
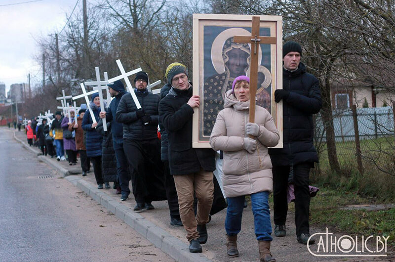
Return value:
[[(296, 240), (307, 245), (315, 241), (309, 227), (309, 173), (318, 162), (312, 115), (322, 105), (318, 80), (300, 61), (300, 44), (285, 43), (282, 57), (283, 86), (274, 92), (275, 102), (283, 105), (282, 148), (272, 148), (280, 135), (266, 108), (256, 105), (255, 121), (248, 121), (250, 78), (245, 75), (235, 76), (232, 85), (226, 83), (226, 90), (219, 93), (224, 108), (209, 125), (211, 148), (193, 147), (194, 109), (204, 101), (193, 94), (191, 76), (179, 62), (167, 67), (160, 95), (150, 90), (143, 71), (134, 75), (132, 88), (129, 80), (128, 89), (119, 79), (108, 82), (111, 100), (103, 101), (102, 82), (96, 83), (97, 91), (87, 93), (83, 88), (78, 98), (85, 97), (86, 104), (63, 105), (54, 116), (29, 120), (27, 140), (33, 145), (36, 137), (42, 154), (57, 161), (67, 160), (69, 165), (79, 161), (82, 176), (92, 165), (97, 188), (110, 189), (114, 182), (120, 201), (129, 200), (132, 193), (135, 212), (153, 210), (153, 202), (167, 200), (169, 222), (184, 226), (191, 253), (202, 252), (211, 216), (227, 208), (225, 252), (237, 257), (244, 201), (250, 196), (260, 261), (273, 262), (269, 195), (274, 193), (274, 235), (283, 237), (291, 170)], [(220, 177), (213, 175), (218, 169), (216, 151), (221, 151)]]

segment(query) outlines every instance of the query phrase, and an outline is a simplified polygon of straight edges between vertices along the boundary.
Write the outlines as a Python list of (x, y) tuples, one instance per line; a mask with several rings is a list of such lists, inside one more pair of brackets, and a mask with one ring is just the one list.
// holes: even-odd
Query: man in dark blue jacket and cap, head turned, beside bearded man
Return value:
[(115, 156), (117, 158), (117, 172), (118, 181), (120, 186), (120, 201), (125, 201), (129, 199), (130, 189), (129, 180), (130, 174), (128, 173), (128, 163), (123, 151), (123, 138), (122, 138), (122, 123), (119, 123), (116, 119), (117, 108), (120, 99), (127, 92), (125, 91), (125, 86), (120, 80), (115, 81), (113, 84), (107, 85), (111, 97), (114, 99), (111, 101), (109, 107), (105, 112), (100, 112), (100, 118), (106, 118), (108, 123), (111, 122), (111, 133), (113, 135), (113, 146), (115, 151)]

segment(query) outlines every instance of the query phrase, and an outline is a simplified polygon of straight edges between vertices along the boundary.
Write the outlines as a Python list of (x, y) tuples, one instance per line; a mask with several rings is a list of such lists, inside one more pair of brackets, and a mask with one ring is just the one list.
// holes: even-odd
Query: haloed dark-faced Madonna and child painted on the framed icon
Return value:
[[(232, 89), (237, 76), (249, 76), (250, 45), (233, 42), (233, 36), (250, 36), (243, 28), (230, 28), (221, 32), (211, 46), (211, 62), (217, 74), (204, 81), (203, 86), (203, 136), (210, 136), (217, 114), (224, 108), (226, 91)], [(222, 52), (219, 52), (222, 50)], [(272, 76), (270, 71), (261, 65), (262, 50), (258, 48), (258, 87), (257, 105), (271, 112)], [(269, 87), (269, 88), (268, 88)]]

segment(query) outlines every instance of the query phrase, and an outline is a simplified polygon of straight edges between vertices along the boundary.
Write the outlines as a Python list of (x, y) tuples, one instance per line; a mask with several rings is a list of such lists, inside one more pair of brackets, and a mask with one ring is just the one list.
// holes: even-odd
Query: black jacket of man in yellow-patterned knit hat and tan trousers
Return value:
[(215, 170), (215, 151), (192, 147), (192, 115), (187, 102), (192, 96), (188, 90), (171, 88), (159, 103), (160, 122), (167, 131), (171, 175), (188, 175)]

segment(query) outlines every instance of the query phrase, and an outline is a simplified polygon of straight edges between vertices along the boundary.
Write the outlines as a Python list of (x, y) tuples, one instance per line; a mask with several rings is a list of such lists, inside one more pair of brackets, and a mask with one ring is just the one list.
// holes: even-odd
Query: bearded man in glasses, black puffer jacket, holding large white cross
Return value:
[(133, 195), (137, 202), (134, 211), (154, 209), (152, 201), (166, 199), (163, 165), (160, 161), (158, 139), (159, 95), (147, 90), (148, 75), (139, 72), (134, 79), (137, 109), (132, 95), (126, 93), (119, 101), (116, 120), (123, 124), (123, 149), (132, 172)]

